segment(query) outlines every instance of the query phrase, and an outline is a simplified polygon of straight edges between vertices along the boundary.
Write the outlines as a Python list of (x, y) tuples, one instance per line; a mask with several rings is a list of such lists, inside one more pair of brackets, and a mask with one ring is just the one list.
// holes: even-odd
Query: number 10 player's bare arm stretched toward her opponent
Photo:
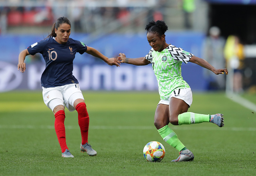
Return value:
[(116, 58), (108, 58), (101, 54), (97, 49), (94, 49), (92, 47), (87, 46), (87, 54), (93, 55), (94, 57), (102, 59), (104, 62), (106, 62), (109, 65), (116, 65), (116, 67), (120, 67), (119, 62)]

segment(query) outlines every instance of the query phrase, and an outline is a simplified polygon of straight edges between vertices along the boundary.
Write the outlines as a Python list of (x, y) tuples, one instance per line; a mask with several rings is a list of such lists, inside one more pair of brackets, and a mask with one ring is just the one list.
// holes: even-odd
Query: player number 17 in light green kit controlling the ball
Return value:
[(192, 92), (190, 86), (181, 76), (181, 64), (192, 62), (211, 70), (216, 75), (228, 74), (228, 70), (215, 69), (204, 59), (167, 44), (165, 32), (168, 30), (168, 26), (164, 21), (151, 21), (147, 24), (146, 30), (147, 40), (152, 47), (150, 52), (141, 58), (126, 58), (125, 54), (120, 53), (118, 60), (120, 63), (133, 65), (152, 64), (160, 95), (154, 117), (156, 129), (165, 142), (179, 151), (178, 158), (172, 161), (193, 161), (194, 154), (181, 143), (177, 134), (168, 124), (182, 125), (212, 122), (222, 127), (224, 126), (224, 118), (223, 114), (204, 115), (187, 112), (192, 103)]

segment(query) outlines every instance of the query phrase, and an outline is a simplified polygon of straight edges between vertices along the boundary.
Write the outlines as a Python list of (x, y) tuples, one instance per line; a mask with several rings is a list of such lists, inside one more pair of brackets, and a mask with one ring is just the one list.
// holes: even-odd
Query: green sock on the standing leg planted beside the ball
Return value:
[(178, 139), (177, 134), (175, 134), (175, 132), (171, 128), (169, 128), (168, 125), (160, 128), (157, 131), (159, 132), (159, 134), (161, 135), (161, 137), (166, 143), (169, 143), (179, 152), (181, 151), (181, 149), (185, 147), (183, 143), (181, 143), (181, 141)]

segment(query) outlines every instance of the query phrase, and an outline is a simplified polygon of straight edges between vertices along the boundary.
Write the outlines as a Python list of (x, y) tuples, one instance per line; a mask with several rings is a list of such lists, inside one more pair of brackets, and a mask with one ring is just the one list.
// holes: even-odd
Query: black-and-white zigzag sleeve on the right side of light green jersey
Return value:
[(184, 51), (182, 48), (177, 48), (176, 46), (169, 45), (168, 51), (172, 55), (172, 58), (176, 61), (181, 61), (187, 64), (187, 62), (194, 56), (190, 52)]

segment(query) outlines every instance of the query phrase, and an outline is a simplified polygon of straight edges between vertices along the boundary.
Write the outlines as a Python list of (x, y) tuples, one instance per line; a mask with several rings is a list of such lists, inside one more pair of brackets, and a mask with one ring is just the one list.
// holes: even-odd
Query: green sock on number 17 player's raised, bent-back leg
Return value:
[(179, 125), (182, 124), (199, 124), (202, 122), (209, 122), (210, 115), (196, 114), (193, 112), (184, 112), (178, 115)]

